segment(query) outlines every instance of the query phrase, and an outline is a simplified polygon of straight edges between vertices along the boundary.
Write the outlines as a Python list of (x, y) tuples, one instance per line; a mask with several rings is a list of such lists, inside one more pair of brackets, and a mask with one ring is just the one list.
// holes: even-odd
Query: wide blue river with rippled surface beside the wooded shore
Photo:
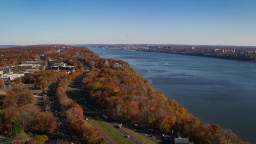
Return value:
[(89, 48), (101, 58), (129, 62), (168, 99), (202, 122), (256, 143), (256, 63), (189, 55)]

